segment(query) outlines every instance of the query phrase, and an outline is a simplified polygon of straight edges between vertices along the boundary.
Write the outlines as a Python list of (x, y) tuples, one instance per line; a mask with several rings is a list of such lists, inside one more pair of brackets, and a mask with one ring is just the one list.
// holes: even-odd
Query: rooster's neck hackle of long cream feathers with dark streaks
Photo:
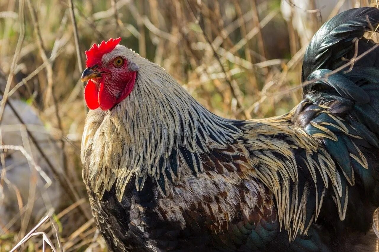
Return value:
[(235, 121), (209, 112), (161, 67), (149, 63), (139, 65), (135, 88), (125, 100), (110, 111), (88, 115), (86, 129), (96, 128), (89, 126), (90, 118), (103, 113), (94, 132), (99, 139), (92, 140), (92, 158), (87, 159), (88, 179), (98, 197), (115, 184), (121, 200), (134, 176), (138, 190), (150, 176), (167, 195), (169, 184), (202, 173), (201, 154), (225, 148), (241, 134)]

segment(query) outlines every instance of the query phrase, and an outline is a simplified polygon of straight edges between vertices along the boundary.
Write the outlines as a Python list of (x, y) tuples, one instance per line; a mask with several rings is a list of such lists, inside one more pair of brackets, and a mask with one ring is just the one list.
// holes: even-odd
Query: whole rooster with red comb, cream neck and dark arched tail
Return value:
[[(111, 251), (373, 251), (379, 207), (379, 10), (342, 12), (310, 41), (287, 114), (222, 118), (120, 44), (85, 52), (81, 143)], [(362, 58), (362, 59), (361, 59)]]

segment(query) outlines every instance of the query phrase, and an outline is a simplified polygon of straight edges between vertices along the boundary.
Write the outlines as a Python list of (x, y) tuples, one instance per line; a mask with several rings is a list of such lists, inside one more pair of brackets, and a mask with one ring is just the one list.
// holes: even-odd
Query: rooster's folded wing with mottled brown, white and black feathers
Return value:
[[(326, 246), (316, 232), (290, 243), (280, 231), (274, 194), (256, 178), (246, 143), (235, 142), (224, 149), (202, 155), (204, 173), (188, 174), (158, 199), (157, 212), (175, 223), (179, 248), (193, 239), (206, 239), (197, 248), (229, 251), (319, 251)], [(247, 145), (246, 145), (247, 146)], [(185, 160), (183, 160), (185, 162)], [(182, 163), (181, 165), (186, 165)], [(197, 239), (197, 238), (196, 238)], [(326, 249), (327, 250), (327, 249)]]

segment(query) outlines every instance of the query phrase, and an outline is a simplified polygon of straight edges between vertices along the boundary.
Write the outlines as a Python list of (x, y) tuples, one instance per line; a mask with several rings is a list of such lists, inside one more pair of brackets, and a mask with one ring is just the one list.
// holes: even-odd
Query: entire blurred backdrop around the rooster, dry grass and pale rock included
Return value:
[(0, 252), (18, 242), (106, 251), (81, 180), (80, 76), (93, 43), (122, 37), (215, 114), (271, 117), (301, 100), (315, 31), (368, 5), (377, 1), (0, 0)]

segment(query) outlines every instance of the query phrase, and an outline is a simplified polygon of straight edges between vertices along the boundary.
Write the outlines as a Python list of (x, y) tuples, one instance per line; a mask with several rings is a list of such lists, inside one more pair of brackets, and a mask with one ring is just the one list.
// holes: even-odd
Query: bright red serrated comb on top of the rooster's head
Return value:
[(96, 64), (101, 63), (101, 57), (105, 53), (110, 53), (116, 45), (118, 45), (121, 41), (121, 37), (117, 39), (109, 39), (107, 42), (103, 40), (100, 45), (93, 44), (88, 51), (85, 51), (87, 56), (86, 59), (86, 67), (93, 67)]

